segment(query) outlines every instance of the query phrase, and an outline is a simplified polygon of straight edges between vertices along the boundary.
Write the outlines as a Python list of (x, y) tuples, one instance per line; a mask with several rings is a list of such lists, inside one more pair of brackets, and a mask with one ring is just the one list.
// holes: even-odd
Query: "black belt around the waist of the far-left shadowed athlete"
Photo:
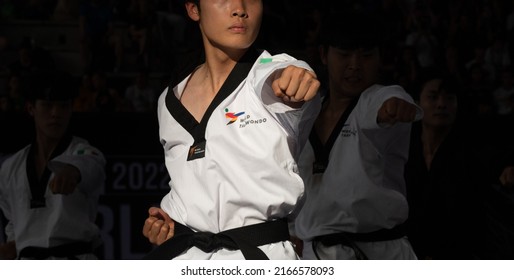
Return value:
[(18, 254), (18, 258), (44, 260), (50, 257), (77, 260), (78, 255), (92, 254), (93, 246), (90, 242), (74, 242), (50, 248), (25, 247)]

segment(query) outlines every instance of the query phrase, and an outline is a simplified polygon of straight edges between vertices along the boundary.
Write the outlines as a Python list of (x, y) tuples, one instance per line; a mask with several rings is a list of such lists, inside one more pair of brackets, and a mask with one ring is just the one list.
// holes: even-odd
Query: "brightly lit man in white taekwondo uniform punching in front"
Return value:
[[(215, 39), (221, 43), (213, 45), (210, 40), (204, 40), (206, 63), (178, 85), (165, 90), (159, 98), (160, 140), (171, 177), (171, 191), (161, 202), (166, 214), (161, 211), (159, 216), (169, 215), (175, 223), (163, 224), (162, 220), (166, 219), (159, 221), (158, 215), (150, 212), (143, 232), (156, 244), (161, 242), (156, 241), (155, 235), (163, 232), (165, 239), (177, 240), (180, 237), (177, 223), (193, 232), (209, 235), (287, 218), (303, 195), (303, 181), (296, 162), (320, 107), (319, 82), (305, 62), (286, 54), (272, 56), (248, 47), (255, 40), (258, 27), (255, 20), (257, 17), (260, 22), (262, 15), (261, 1), (202, 0), (187, 2), (186, 8), (191, 18), (199, 20), (206, 37), (212, 36), (211, 30), (207, 30), (207, 26), (212, 27), (211, 13), (218, 13), (215, 16), (223, 18), (224, 25), (234, 30), (222, 27), (220, 32), (220, 28), (216, 29), (216, 33), (226, 37), (216, 35), (220, 37)], [(202, 16), (208, 19), (203, 21)], [(236, 41), (240, 39), (244, 44)], [(235, 46), (232, 49), (220, 47), (223, 44)], [(195, 117), (197, 107), (188, 105), (188, 100), (195, 94), (200, 99), (196, 102), (209, 98), (199, 91), (198, 79), (206, 70), (225, 67), (222, 61), (230, 60), (234, 48), (239, 49), (236, 53), (242, 56), (228, 64), (228, 78), (221, 77), (221, 89), (215, 91), (212, 102), (207, 102), (200, 110), (199, 115), (205, 111), (203, 118)], [(214, 53), (216, 57), (211, 57)], [(218, 57), (222, 57), (222, 61)], [(285, 230), (285, 239), (257, 242), (266, 258), (297, 259), (288, 241), (287, 223), (283, 225), (285, 227), (279, 230)], [(171, 235), (166, 235), (169, 227), (174, 227), (175, 231), (171, 239)], [(152, 229), (157, 230), (152, 234)], [(179, 252), (176, 259), (248, 258), (241, 244), (255, 244), (253, 241), (275, 230), (277, 228), (249, 229), (239, 237), (229, 236), (237, 246), (202, 249), (196, 242)], [(210, 236), (200, 243), (216, 242), (224, 241)]]

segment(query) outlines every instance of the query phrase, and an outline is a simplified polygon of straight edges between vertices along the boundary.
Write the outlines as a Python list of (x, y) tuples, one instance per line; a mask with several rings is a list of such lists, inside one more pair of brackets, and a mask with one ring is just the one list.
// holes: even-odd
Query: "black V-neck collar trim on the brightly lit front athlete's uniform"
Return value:
[(241, 82), (248, 76), (255, 60), (259, 57), (260, 53), (253, 48), (250, 48), (245, 55), (236, 63), (232, 71), (227, 77), (223, 86), (221, 86), (218, 93), (212, 100), (207, 108), (200, 123), (189, 113), (189, 111), (182, 105), (180, 100), (173, 93), (175, 85), (168, 86), (168, 94), (166, 95), (166, 107), (175, 120), (186, 129), (191, 136), (195, 139), (193, 145), (205, 141), (205, 129), (212, 112), (218, 105), (227, 98)]

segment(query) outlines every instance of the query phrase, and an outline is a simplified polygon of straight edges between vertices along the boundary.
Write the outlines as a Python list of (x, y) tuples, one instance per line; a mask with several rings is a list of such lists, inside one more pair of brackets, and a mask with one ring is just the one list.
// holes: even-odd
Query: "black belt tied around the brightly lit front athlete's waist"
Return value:
[(209, 253), (217, 249), (241, 250), (247, 260), (268, 260), (258, 246), (289, 240), (285, 219), (230, 229), (219, 233), (194, 232), (175, 222), (175, 233), (160, 246), (148, 253), (145, 260), (169, 260), (191, 247)]

